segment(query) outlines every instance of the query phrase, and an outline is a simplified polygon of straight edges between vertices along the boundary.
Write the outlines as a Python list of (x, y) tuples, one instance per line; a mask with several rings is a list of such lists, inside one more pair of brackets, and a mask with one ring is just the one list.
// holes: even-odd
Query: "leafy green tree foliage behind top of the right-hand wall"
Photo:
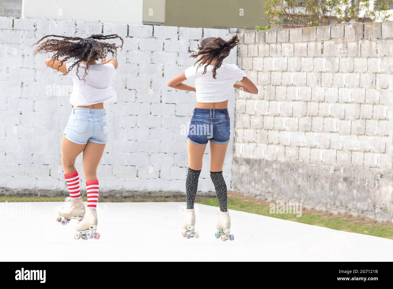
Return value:
[(393, 0), (266, 0), (264, 7), (271, 25), (288, 28), (386, 21), (391, 4)]

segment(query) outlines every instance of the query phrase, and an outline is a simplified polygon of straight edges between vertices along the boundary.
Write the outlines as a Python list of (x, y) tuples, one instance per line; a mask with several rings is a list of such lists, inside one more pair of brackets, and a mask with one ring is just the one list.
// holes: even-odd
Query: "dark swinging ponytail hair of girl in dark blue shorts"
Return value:
[(208, 37), (202, 39), (200, 45), (198, 47), (198, 52), (191, 55), (190, 57), (198, 57), (200, 58), (195, 62), (198, 63), (198, 67), (205, 65), (203, 74), (206, 73), (206, 68), (214, 59), (217, 59), (216, 63), (213, 67), (213, 78), (216, 78), (216, 70), (221, 67), (222, 61), (225, 57), (229, 55), (231, 49), (234, 48), (239, 42), (239, 37), (234, 35), (230, 40), (225, 41), (221, 37)]

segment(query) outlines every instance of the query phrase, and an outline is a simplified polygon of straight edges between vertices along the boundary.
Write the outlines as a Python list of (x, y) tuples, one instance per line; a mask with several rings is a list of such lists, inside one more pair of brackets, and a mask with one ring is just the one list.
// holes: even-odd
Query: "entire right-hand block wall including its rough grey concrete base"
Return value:
[(238, 63), (232, 188), (393, 219), (393, 22), (252, 31)]

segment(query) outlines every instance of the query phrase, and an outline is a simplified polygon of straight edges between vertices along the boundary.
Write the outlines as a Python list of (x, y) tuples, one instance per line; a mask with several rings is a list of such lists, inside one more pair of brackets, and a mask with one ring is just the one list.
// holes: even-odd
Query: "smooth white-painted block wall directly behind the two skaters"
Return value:
[[(72, 109), (72, 81), (46, 68), (48, 55), (34, 56), (31, 44), (47, 34), (117, 33), (125, 42), (113, 81), (118, 100), (105, 105), (110, 134), (98, 169), (100, 184), (103, 190), (184, 191), (186, 127), (195, 93), (166, 84), (193, 64), (189, 55), (198, 40), (211, 35), (229, 39), (235, 32), (0, 17), (0, 187), (66, 189), (60, 142)], [(233, 50), (226, 62), (236, 63), (236, 53)], [(233, 120), (234, 105), (231, 99)], [(231, 144), (224, 165), (228, 185)], [(83, 179), (81, 162), (79, 156), (76, 167)], [(201, 177), (199, 190), (213, 191), (209, 149)]]

